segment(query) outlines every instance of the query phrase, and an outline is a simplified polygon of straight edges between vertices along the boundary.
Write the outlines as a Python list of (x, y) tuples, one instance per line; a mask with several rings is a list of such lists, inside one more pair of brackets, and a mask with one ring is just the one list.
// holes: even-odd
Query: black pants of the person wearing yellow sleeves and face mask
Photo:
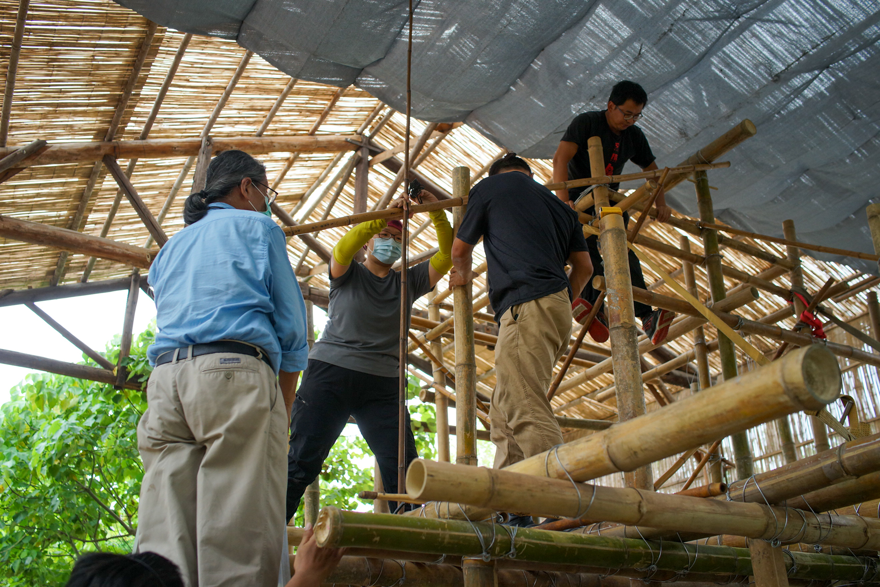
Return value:
[[(355, 416), (363, 439), (378, 460), (385, 492), (398, 493), (398, 385), (396, 377), (378, 377), (309, 359), (290, 414), (288, 521), (297, 513), (305, 488), (318, 477), (349, 415)], [(406, 454), (407, 466), (418, 458), (408, 412)], [(393, 511), (395, 505), (389, 506)]]

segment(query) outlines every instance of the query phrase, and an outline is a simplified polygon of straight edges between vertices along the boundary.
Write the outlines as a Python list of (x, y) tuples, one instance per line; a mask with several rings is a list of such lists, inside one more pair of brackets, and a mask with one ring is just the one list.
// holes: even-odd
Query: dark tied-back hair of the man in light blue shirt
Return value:
[(266, 176), (266, 165), (248, 155), (243, 150), (224, 150), (211, 159), (205, 188), (201, 192), (189, 194), (183, 204), (183, 221), (193, 224), (208, 214), (212, 202), (223, 200), (233, 188), (246, 177), (261, 181)]

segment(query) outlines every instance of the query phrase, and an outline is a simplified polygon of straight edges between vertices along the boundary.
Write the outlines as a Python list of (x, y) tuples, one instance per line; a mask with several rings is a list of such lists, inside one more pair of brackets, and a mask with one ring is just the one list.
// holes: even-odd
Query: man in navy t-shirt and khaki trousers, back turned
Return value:
[(592, 265), (575, 211), (532, 180), (516, 153), (495, 161), (471, 190), (452, 244), (451, 287), (473, 279), (471, 252), (480, 237), (499, 323), (489, 418), (500, 468), (562, 442), (546, 392), (568, 349), (572, 291), (583, 289)]

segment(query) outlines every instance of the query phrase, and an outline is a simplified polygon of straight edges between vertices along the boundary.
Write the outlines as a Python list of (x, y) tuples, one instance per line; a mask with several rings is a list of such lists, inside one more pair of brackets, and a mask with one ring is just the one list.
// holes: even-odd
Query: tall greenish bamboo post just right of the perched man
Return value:
[[(700, 209), (700, 221), (715, 224), (715, 209), (712, 207), (712, 194), (709, 192), (709, 180), (706, 172), (694, 172), (696, 182), (697, 206)], [(712, 301), (717, 304), (724, 297), (724, 275), (721, 272), (721, 254), (718, 252), (718, 232), (703, 229), (703, 254), (706, 255), (706, 273)], [(737, 353), (733, 341), (724, 334), (718, 333), (718, 354), (721, 355), (722, 376), (725, 380), (737, 377)], [(737, 432), (730, 437), (733, 442), (733, 454), (737, 463), (737, 479), (748, 479), (752, 476), (752, 449), (749, 446), (748, 432)]]

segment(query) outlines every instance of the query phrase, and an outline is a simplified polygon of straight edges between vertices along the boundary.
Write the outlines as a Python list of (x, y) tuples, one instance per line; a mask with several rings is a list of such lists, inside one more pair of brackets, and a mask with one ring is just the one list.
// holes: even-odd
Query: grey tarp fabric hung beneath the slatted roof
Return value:
[[(407, 2), (120, 0), (160, 25), (252, 49), (293, 77), (356, 84), (404, 107)], [(674, 165), (749, 118), (758, 135), (712, 172), (718, 218), (873, 253), (865, 205), (880, 184), (880, 1), (422, 0), (413, 114), (466, 121), (532, 158), (603, 108), (614, 82), (649, 92), (640, 122)], [(670, 194), (696, 214), (693, 185)], [(841, 260), (877, 272), (875, 263)]]

